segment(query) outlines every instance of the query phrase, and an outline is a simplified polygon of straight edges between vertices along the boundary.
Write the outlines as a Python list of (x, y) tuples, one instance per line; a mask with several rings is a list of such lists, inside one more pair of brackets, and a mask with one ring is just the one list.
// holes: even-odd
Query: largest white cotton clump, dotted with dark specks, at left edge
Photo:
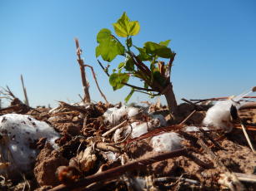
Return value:
[[(7, 172), (27, 171), (38, 155), (36, 143), (40, 138), (57, 147), (54, 143), (58, 133), (47, 123), (29, 115), (7, 114), (0, 116), (0, 154), (2, 162), (9, 162)], [(1, 169), (0, 174), (5, 170)]]

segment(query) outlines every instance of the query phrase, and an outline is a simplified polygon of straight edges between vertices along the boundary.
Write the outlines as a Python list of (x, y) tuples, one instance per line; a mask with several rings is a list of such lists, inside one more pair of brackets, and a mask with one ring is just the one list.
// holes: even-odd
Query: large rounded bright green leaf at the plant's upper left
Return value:
[(124, 54), (123, 45), (106, 28), (98, 32), (97, 42), (96, 57), (102, 56), (104, 61), (113, 61), (116, 56)]

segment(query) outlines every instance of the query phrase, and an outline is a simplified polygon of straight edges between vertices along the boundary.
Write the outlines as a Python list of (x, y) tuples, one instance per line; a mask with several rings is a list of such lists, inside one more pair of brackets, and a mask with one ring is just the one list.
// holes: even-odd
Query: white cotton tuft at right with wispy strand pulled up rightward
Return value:
[(206, 112), (206, 116), (203, 119), (203, 125), (213, 128), (221, 128), (227, 132), (230, 132), (233, 129), (233, 124), (230, 122), (230, 108), (234, 105), (239, 109), (244, 102), (240, 100), (243, 96), (247, 96), (253, 91), (248, 91), (239, 96), (233, 97), (231, 100), (219, 100)]

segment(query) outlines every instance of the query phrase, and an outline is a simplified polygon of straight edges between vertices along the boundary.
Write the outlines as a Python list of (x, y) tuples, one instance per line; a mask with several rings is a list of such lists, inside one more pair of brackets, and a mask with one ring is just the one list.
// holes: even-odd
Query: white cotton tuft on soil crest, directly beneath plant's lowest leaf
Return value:
[(108, 108), (108, 110), (103, 114), (103, 117), (105, 118), (105, 121), (108, 121), (111, 125), (118, 125), (125, 115), (130, 118), (138, 115), (138, 113), (138, 108), (123, 105), (119, 109), (116, 107)]

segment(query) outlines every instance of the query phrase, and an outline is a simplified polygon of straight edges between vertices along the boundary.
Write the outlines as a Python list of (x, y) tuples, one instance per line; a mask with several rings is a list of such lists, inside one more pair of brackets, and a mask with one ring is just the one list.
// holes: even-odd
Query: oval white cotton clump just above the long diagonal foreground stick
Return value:
[(155, 152), (167, 152), (176, 149), (181, 149), (183, 146), (181, 141), (183, 139), (177, 133), (163, 133), (161, 135), (153, 136), (150, 143)]

